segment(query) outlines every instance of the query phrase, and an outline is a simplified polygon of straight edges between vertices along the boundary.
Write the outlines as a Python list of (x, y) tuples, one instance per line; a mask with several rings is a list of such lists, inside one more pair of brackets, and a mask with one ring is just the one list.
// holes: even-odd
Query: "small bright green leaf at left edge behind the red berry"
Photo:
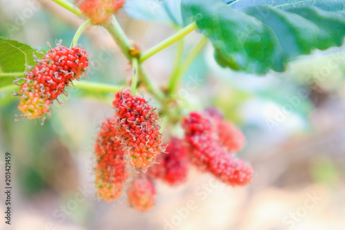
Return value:
[(26, 70), (24, 64), (36, 65), (33, 54), (43, 56), (26, 44), (0, 37), (0, 89), (12, 85), (16, 76), (23, 75)]

